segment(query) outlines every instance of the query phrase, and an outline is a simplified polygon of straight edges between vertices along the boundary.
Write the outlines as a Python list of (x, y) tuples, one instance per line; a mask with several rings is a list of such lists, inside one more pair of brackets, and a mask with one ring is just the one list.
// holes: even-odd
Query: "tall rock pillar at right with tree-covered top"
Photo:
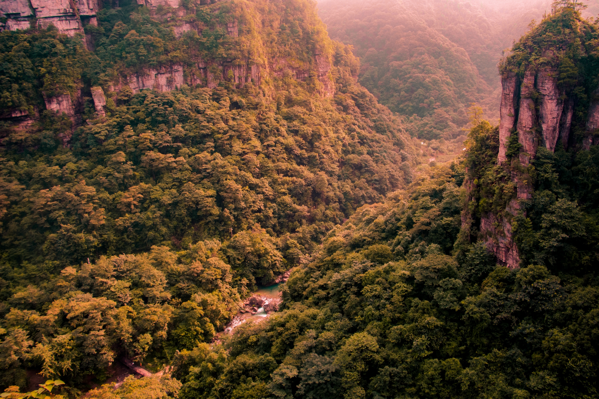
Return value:
[[(544, 43), (546, 31), (559, 24), (576, 27), (580, 36), (552, 32), (552, 40), (558, 39)], [(551, 152), (558, 146), (571, 151), (588, 150), (599, 142), (599, 91), (591, 92), (593, 83), (589, 81), (594, 80), (587, 79), (581, 74), (583, 69), (577, 67), (580, 60), (593, 57), (592, 48), (596, 47), (585, 43), (585, 24), (571, 9), (553, 13), (516, 43), (513, 54), (500, 64), (503, 90), (497, 162), (509, 175), (502, 179), (515, 184), (516, 190), (503, 211), (481, 212), (480, 237), (498, 263), (510, 268), (518, 267), (520, 262), (512, 221), (516, 215), (526, 216), (525, 205), (533, 199), (531, 171), (539, 148)], [(588, 29), (591, 37), (595, 31)], [(580, 133), (574, 135), (574, 126), (582, 137)]]

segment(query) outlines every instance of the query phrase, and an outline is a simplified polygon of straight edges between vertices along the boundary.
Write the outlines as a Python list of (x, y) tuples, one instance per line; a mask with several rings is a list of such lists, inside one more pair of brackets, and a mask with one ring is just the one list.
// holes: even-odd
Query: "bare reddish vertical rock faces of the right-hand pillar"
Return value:
[[(550, 56), (552, 54), (547, 53), (547, 57)], [(521, 201), (533, 197), (533, 179), (528, 176), (525, 167), (535, 159), (539, 145), (553, 152), (558, 145), (568, 148), (572, 144), (574, 98), (559, 88), (556, 68), (526, 71), (520, 78), (513, 73), (506, 74), (501, 83), (503, 92), (497, 158), (500, 165), (506, 162), (510, 136), (518, 134), (518, 142), (521, 144), (519, 166), (512, 164), (510, 167), (510, 179), (516, 182), (517, 195), (507, 205), (504, 215), (483, 212), (480, 233), (487, 248), (497, 256), (498, 262), (513, 268), (518, 267), (520, 257), (513, 240), (510, 220), (518, 212), (524, 212)], [(586, 135), (582, 143), (584, 148), (599, 144), (598, 132), (599, 90), (591, 98)]]

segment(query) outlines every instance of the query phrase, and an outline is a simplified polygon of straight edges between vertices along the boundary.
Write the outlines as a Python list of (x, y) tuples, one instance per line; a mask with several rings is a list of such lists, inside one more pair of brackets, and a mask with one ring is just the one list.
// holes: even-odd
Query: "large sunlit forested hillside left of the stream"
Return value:
[(86, 42), (0, 33), (4, 387), (29, 368), (84, 389), (119, 357), (158, 370), (210, 342), (418, 163), (311, 2), (119, 5)]

